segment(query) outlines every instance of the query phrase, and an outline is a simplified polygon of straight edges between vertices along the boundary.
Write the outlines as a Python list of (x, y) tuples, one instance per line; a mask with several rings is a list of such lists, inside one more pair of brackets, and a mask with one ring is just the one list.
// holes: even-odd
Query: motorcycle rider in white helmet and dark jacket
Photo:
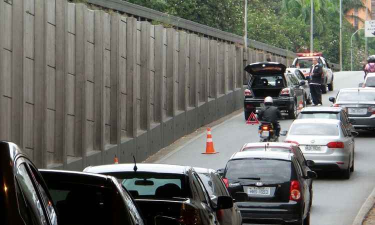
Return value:
[(273, 128), (276, 130), (275, 136), (278, 137), (280, 135), (280, 125), (278, 124), (277, 120), (281, 118), (281, 112), (277, 107), (272, 106), (272, 97), (265, 97), (263, 102), (264, 108), (259, 111), (258, 119), (261, 121), (271, 122)]

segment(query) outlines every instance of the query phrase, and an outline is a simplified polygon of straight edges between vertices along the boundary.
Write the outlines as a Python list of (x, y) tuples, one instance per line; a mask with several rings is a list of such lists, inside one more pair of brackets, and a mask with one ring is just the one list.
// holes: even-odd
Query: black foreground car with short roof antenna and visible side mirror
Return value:
[(217, 224), (215, 211), (233, 207), (229, 196), (218, 196), (217, 205), (211, 205), (203, 182), (190, 166), (111, 164), (84, 171), (116, 177), (135, 199), (147, 224), (163, 215), (182, 224), (213, 225)]

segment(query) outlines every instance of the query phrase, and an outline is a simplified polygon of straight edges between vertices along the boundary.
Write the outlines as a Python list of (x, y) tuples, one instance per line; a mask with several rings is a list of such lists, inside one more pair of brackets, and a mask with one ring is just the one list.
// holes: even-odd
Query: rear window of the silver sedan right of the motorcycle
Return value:
[(337, 136), (338, 125), (317, 122), (295, 123), (291, 125), (289, 135)]

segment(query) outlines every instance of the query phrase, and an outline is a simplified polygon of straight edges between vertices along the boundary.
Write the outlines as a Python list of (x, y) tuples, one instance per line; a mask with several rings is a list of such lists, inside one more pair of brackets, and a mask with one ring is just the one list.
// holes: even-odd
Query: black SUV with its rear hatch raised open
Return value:
[(244, 116), (264, 107), (266, 96), (273, 98), (273, 105), (288, 112), (290, 118), (297, 116), (297, 109), (305, 105), (305, 81), (299, 81), (285, 65), (278, 62), (256, 62), (244, 69), (251, 77), (244, 90)]

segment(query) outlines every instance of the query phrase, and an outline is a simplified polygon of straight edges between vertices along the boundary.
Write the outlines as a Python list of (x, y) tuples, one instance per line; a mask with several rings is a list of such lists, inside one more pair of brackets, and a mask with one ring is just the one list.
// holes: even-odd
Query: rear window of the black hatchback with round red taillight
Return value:
[(229, 180), (285, 182), (291, 178), (291, 162), (251, 158), (230, 160), (226, 164), (225, 177)]

